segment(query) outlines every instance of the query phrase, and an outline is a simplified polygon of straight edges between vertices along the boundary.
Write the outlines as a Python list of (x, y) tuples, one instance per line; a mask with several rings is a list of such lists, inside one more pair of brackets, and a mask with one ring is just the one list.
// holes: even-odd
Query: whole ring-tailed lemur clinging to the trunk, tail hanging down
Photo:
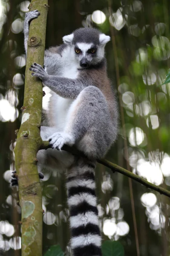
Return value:
[[(26, 14), (26, 52), (29, 23), (38, 15), (37, 10)], [(51, 148), (39, 151), (37, 159), (39, 168), (67, 170), (74, 256), (101, 256), (94, 169), (96, 159), (104, 157), (115, 141), (118, 124), (104, 57), (109, 40), (97, 29), (77, 29), (63, 37), (61, 46), (45, 51), (46, 70), (37, 63), (30, 67), (32, 76), (40, 78), (52, 94), (46, 109), (49, 126), (41, 126), (40, 133), (43, 140), (49, 140)], [(63, 152), (64, 144), (75, 145), (86, 157)]]

